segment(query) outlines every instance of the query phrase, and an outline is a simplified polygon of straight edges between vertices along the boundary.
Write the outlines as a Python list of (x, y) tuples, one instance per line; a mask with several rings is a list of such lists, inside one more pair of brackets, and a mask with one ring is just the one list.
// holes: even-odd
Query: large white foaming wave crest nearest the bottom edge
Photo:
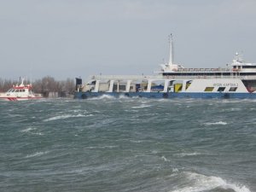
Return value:
[(200, 192), (212, 189), (232, 189), (236, 192), (251, 192), (246, 186), (241, 186), (236, 183), (227, 183), (221, 177), (208, 177), (195, 172), (183, 172), (183, 174), (189, 186), (172, 190), (172, 192)]

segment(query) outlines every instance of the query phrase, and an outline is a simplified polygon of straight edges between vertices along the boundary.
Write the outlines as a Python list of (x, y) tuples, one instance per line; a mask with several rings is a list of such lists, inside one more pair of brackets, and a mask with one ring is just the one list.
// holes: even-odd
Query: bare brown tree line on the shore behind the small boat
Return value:
[[(15, 84), (20, 84), (20, 82), (9, 79), (0, 79), (0, 92), (9, 90)], [(26, 80), (24, 84), (26, 84)], [(46, 76), (32, 82), (32, 91), (35, 93), (65, 92), (67, 94), (73, 94), (74, 90), (74, 79), (70, 78), (67, 78), (66, 80), (55, 80), (53, 77)]]

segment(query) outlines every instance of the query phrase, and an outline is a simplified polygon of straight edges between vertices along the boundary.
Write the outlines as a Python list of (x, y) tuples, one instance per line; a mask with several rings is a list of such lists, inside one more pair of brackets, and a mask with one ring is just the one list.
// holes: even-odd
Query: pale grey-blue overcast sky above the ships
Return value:
[(0, 79), (148, 74), (256, 62), (255, 0), (0, 0)]

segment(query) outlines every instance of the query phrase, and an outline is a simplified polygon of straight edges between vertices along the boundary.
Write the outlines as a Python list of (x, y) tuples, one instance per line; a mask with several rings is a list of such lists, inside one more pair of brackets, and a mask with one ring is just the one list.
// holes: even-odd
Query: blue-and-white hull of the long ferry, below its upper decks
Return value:
[[(132, 83), (139, 80), (140, 84)], [(113, 79), (108, 80), (108, 84), (102, 83), (105, 81), (105, 77), (96, 78), (93, 85), (85, 85), (84, 90), (76, 91), (74, 98), (87, 99), (104, 95), (145, 98), (256, 98), (256, 81), (250, 81), (249, 90), (248, 85), (246, 86), (248, 83), (242, 79), (146, 77), (133, 80)]]

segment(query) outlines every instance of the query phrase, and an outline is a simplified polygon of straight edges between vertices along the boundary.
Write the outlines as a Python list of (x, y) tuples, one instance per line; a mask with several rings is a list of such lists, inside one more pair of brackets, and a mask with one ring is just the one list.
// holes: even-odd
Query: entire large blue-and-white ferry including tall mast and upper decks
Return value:
[(74, 98), (129, 96), (147, 98), (256, 98), (256, 63), (236, 53), (232, 63), (217, 68), (187, 68), (174, 63), (172, 35), (169, 62), (153, 76), (96, 75), (76, 79)]

